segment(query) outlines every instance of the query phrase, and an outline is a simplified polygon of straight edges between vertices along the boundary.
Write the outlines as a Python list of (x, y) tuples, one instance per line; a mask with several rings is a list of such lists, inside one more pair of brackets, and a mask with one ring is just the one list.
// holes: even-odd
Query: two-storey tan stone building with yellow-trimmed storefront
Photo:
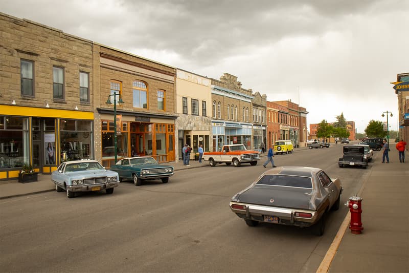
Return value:
[(93, 44), (0, 13), (0, 180), (94, 158)]

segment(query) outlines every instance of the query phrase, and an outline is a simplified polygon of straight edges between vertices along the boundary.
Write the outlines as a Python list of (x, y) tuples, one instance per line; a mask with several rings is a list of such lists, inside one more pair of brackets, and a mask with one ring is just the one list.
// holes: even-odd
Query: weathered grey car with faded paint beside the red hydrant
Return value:
[(264, 172), (233, 196), (230, 209), (248, 226), (259, 222), (313, 226), (321, 236), (326, 215), (339, 208), (342, 191), (340, 180), (321, 169), (282, 166)]

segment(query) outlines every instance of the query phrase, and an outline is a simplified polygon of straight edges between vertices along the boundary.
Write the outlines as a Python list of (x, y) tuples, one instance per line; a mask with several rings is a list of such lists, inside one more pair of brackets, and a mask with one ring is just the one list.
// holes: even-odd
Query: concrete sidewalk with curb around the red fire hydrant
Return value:
[(409, 272), (409, 162), (390, 159), (375, 157), (358, 193), (362, 234), (351, 233), (348, 213), (317, 272)]

